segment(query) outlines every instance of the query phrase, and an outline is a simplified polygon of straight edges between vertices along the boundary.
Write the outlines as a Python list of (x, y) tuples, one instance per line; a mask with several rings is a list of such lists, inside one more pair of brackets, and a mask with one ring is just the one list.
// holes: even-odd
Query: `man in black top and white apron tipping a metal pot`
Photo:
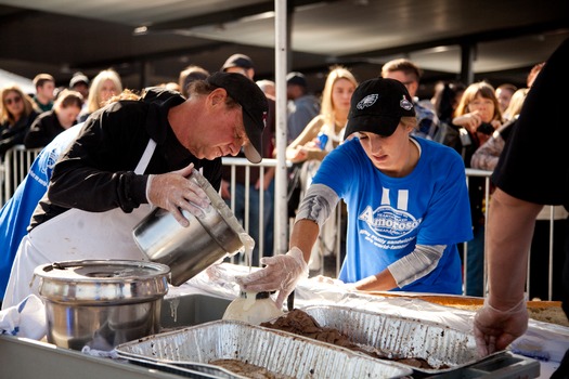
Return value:
[[(145, 96), (147, 97), (147, 96)], [(119, 101), (98, 110), (60, 157), (47, 195), (22, 240), (2, 308), (29, 292), (34, 269), (78, 259), (144, 259), (131, 236), (151, 206), (199, 217), (209, 206), (186, 180), (192, 170), (219, 190), (221, 157), (242, 148), (261, 161), (267, 100), (240, 74), (196, 81), (190, 99), (164, 91), (156, 100)]]

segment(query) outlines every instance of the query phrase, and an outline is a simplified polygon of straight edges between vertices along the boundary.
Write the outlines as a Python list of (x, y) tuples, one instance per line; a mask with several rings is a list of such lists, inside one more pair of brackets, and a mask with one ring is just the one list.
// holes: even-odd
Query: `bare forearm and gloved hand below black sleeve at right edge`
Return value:
[(542, 208), (500, 187), (492, 196), (487, 230), (490, 295), (474, 321), (480, 356), (506, 349), (528, 329), (523, 285), (535, 217)]

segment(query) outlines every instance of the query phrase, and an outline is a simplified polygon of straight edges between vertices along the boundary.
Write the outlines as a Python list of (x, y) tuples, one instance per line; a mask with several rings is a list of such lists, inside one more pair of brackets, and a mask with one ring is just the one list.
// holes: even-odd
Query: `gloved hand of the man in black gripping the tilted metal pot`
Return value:
[(186, 179), (192, 174), (194, 164), (190, 164), (178, 171), (150, 175), (146, 183), (148, 202), (172, 213), (184, 227), (190, 225), (190, 221), (183, 217), (182, 210), (195, 217), (203, 217), (204, 209), (208, 209), (211, 204), (204, 190)]

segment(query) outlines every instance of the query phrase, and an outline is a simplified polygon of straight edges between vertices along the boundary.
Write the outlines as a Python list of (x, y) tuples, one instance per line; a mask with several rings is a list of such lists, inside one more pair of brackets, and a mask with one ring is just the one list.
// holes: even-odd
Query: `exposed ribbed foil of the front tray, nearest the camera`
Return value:
[[(237, 360), (290, 378), (402, 378), (413, 370), (329, 343), (237, 321), (215, 321), (126, 342), (119, 356), (166, 365)], [(243, 378), (235, 375), (236, 378)]]

